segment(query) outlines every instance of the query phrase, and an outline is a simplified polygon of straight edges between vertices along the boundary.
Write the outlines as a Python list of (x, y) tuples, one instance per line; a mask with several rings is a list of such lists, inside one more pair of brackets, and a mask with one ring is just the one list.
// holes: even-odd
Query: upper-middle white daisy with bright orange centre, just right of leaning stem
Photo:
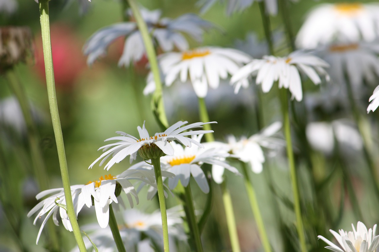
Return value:
[[(204, 98), (209, 87), (216, 89), (220, 79), (228, 78), (251, 60), (247, 54), (232, 48), (200, 47), (182, 53), (165, 53), (159, 57), (164, 83), (191, 82), (196, 95)], [(151, 81), (150, 81), (151, 80)], [(155, 82), (148, 79), (144, 93), (155, 90)], [(246, 80), (247, 82), (247, 80)]]

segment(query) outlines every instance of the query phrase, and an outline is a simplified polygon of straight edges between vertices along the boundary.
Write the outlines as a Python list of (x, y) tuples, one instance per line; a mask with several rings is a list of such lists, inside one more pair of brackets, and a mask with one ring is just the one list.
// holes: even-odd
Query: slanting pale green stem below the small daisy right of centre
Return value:
[(245, 162), (240, 162), (240, 163), (242, 166), (247, 196), (249, 196), (251, 210), (253, 211), (255, 221), (257, 222), (258, 232), (262, 241), (262, 245), (266, 252), (271, 252), (271, 245), (268, 240), (265, 224), (263, 223), (262, 215), (259, 210), (257, 196), (255, 195), (253, 184), (251, 182), (251, 179), (249, 178), (250, 176), (249, 176), (249, 171), (247, 170), (247, 165)]

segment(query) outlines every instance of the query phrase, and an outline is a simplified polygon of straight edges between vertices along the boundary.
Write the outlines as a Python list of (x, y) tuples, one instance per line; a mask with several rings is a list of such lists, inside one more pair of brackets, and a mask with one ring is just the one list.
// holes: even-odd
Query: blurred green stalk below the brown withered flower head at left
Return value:
[[(20, 104), (25, 124), (27, 126), (27, 137), (31, 153), (32, 167), (34, 170), (34, 176), (37, 179), (39, 190), (47, 190), (49, 189), (49, 180), (47, 179), (46, 166), (42, 156), (41, 148), (39, 146), (40, 140), (38, 131), (31, 115), (31, 107), (29, 105), (28, 98), (19, 78), (13, 69), (6, 72), (6, 77), (8, 79), (9, 87), (12, 89), (14, 95), (17, 98), (17, 101)], [(49, 239), (51, 246), (53, 246), (52, 248), (55, 251), (60, 250), (58, 236), (56, 235), (55, 226), (52, 221), (48, 222), (47, 228), (49, 230)]]

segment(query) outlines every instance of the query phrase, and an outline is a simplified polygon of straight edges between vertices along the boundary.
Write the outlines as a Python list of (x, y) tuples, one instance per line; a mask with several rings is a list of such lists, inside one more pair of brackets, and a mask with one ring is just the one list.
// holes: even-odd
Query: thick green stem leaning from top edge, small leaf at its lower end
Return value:
[(152, 96), (152, 109), (155, 118), (157, 119), (160, 127), (162, 129), (168, 128), (168, 120), (166, 117), (166, 112), (164, 111), (164, 103), (162, 97), (162, 83), (161, 77), (159, 73), (157, 55), (154, 50), (153, 42), (150, 37), (149, 31), (147, 30), (147, 25), (143, 17), (141, 16), (141, 12), (139, 12), (138, 5), (135, 0), (127, 0), (130, 8), (133, 11), (133, 16), (136, 19), (137, 26), (139, 31), (141, 32), (142, 39), (146, 48), (147, 58), (149, 59), (150, 68), (154, 76), (155, 81), (155, 91)]

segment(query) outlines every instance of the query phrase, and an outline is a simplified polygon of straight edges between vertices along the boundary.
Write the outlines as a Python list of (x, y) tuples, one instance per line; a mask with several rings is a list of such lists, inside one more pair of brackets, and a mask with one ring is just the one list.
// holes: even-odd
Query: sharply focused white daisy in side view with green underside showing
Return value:
[[(204, 130), (197, 130), (197, 131), (188, 131), (183, 132), (189, 129), (193, 128), (199, 128), (202, 127), (204, 124), (208, 123), (191, 123), (186, 126), (186, 123), (188, 121), (178, 121), (177, 123), (174, 123), (172, 126), (167, 128), (164, 132), (158, 132), (155, 133), (154, 136), (150, 137), (149, 132), (147, 132), (145, 128), (145, 122), (142, 126), (137, 127), (139, 132), (139, 139), (136, 137), (133, 137), (132, 135), (129, 135), (122, 131), (117, 131), (117, 134), (120, 134), (119, 137), (111, 137), (106, 139), (105, 141), (111, 141), (111, 140), (119, 140), (119, 142), (116, 143), (110, 143), (108, 145), (104, 145), (99, 148), (104, 151), (104, 153), (97, 158), (90, 166), (89, 168), (92, 168), (95, 163), (97, 163), (100, 159), (103, 159), (100, 162), (100, 165), (102, 165), (110, 156), (113, 156), (109, 162), (105, 165), (104, 170), (109, 170), (112, 165), (115, 163), (121, 162), (125, 157), (130, 155), (130, 163), (132, 163), (133, 160), (136, 159), (137, 152), (139, 152), (140, 155), (145, 160), (152, 159), (152, 158), (158, 158), (164, 155), (172, 156), (174, 154), (174, 148), (171, 146), (169, 142), (173, 140), (177, 140), (180, 143), (182, 143), (185, 146), (191, 147), (191, 143), (199, 146), (200, 148), (204, 148), (204, 146), (193, 140), (192, 138), (188, 138), (185, 136), (188, 135), (197, 135), (197, 134), (205, 134), (210, 133), (213, 131), (204, 131)], [(215, 121), (209, 122), (209, 123), (216, 123)], [(182, 127), (183, 126), (183, 127)], [(150, 155), (146, 155), (146, 153), (149, 153)]]

